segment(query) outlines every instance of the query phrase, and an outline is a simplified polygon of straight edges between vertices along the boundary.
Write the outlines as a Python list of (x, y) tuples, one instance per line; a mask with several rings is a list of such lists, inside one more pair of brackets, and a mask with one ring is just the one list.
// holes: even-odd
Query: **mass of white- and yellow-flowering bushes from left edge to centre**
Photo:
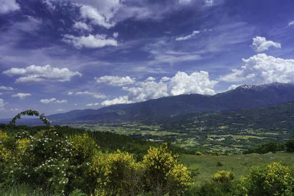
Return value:
[(150, 147), (143, 161), (136, 162), (132, 154), (119, 150), (102, 153), (86, 133), (0, 131), (0, 186), (28, 183), (55, 195), (75, 189), (96, 196), (175, 195), (192, 184), (191, 173), (176, 158), (167, 145)]

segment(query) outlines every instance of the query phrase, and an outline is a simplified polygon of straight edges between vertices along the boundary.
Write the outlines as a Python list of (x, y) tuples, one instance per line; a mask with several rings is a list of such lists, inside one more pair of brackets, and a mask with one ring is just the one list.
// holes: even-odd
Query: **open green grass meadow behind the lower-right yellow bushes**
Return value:
[[(179, 159), (191, 172), (199, 173), (196, 177), (196, 185), (199, 185), (202, 180), (209, 180), (211, 175), (220, 170), (233, 171), (236, 174), (236, 179), (238, 179), (245, 176), (248, 169), (255, 165), (270, 164), (271, 162), (279, 161), (281, 161), (282, 165), (294, 165), (294, 153), (287, 152), (230, 156), (195, 156), (183, 154), (180, 155)], [(218, 167), (218, 162), (221, 162), (223, 166)]]

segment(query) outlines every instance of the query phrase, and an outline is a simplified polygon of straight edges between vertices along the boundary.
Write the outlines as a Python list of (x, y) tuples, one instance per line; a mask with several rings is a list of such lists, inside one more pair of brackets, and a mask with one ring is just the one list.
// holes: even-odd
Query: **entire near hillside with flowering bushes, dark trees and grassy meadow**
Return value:
[[(21, 115), (38, 116), (46, 126), (13, 125)], [(52, 127), (44, 114), (31, 110), (20, 113), (10, 124), (0, 124), (0, 129), (3, 196), (294, 194), (294, 160), (287, 158), (290, 153), (220, 156), (218, 152), (197, 152), (179, 157), (176, 154), (184, 151), (169, 144), (68, 126)], [(121, 144), (109, 143), (120, 143), (120, 139)], [(287, 143), (289, 152), (293, 144)], [(245, 167), (250, 169), (244, 172)]]

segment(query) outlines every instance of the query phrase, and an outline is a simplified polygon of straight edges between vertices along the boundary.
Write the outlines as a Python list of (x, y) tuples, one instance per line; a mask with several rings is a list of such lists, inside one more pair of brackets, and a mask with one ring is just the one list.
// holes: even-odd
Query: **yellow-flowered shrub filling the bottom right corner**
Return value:
[(250, 196), (293, 195), (294, 168), (274, 162), (252, 167), (245, 177), (245, 187)]

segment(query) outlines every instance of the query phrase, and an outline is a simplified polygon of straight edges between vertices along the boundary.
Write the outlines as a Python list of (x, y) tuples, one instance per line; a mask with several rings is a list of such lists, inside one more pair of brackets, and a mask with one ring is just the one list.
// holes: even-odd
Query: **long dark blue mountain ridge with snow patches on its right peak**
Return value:
[(48, 116), (49, 120), (112, 121), (144, 120), (205, 111), (234, 111), (294, 101), (294, 85), (283, 83), (242, 85), (234, 90), (207, 95), (179, 95), (144, 102), (117, 104), (98, 110), (73, 110)]

